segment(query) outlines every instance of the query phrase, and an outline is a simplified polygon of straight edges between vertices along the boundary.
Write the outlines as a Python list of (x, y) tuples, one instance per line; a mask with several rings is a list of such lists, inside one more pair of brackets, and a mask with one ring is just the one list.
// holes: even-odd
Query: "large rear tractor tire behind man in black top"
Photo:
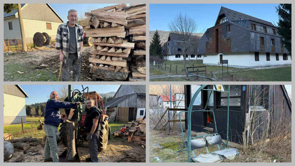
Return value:
[(108, 145), (108, 135), (109, 135), (109, 123), (105, 119), (103, 122), (100, 123), (101, 129), (99, 131), (99, 138), (98, 138), (98, 151), (106, 150), (106, 146)]

